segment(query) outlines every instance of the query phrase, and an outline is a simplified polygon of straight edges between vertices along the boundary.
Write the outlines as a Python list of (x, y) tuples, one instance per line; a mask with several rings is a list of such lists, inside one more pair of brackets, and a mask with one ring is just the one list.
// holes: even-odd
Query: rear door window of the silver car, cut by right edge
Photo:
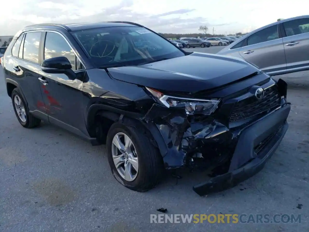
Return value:
[(309, 18), (295, 19), (283, 23), (286, 36), (294, 36), (309, 32)]

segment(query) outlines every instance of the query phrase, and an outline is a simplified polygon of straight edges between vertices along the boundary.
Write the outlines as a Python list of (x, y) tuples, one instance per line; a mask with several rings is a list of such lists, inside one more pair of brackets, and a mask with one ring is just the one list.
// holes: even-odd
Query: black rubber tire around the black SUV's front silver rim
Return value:
[[(139, 192), (145, 192), (155, 187), (164, 174), (163, 159), (159, 153), (159, 149), (150, 142), (149, 137), (146, 135), (146, 131), (145, 133), (143, 133), (143, 131), (145, 131), (145, 129), (142, 126), (135, 128), (116, 122), (110, 127), (106, 142), (108, 147), (108, 163), (111, 167), (113, 176), (123, 186)], [(117, 151), (118, 154), (121, 154), (119, 149), (115, 148), (116, 146), (113, 144), (113, 139), (115, 136), (122, 136), (123, 134), (128, 136), (133, 143), (133, 146), (131, 146), (132, 149), (127, 150), (128, 153), (130, 154), (129, 150), (131, 150), (131, 154), (136, 154), (135, 159), (137, 158), (138, 160), (138, 171), (136, 172), (135, 178), (130, 181), (127, 181), (120, 174), (120, 172), (123, 171), (122, 175), (124, 175), (124, 166), (120, 165), (121, 171), (119, 172), (113, 160), (113, 154), (115, 154), (115, 151)], [(124, 144), (124, 141), (122, 141), (122, 144)], [(133, 149), (135, 150), (135, 153)], [(121, 156), (129, 160), (128, 153), (127, 157), (125, 157), (125, 155)], [(125, 161), (123, 162), (123, 165), (125, 165)], [(129, 163), (127, 163), (127, 165), (129, 165)], [(132, 168), (136, 171), (131, 165), (131, 170)], [(132, 171), (130, 171), (130, 174), (132, 174)]]

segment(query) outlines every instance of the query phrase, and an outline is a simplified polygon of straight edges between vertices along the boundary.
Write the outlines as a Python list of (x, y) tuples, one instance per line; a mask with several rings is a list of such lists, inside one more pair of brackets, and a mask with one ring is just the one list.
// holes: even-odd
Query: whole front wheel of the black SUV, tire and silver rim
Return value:
[(139, 192), (155, 187), (162, 178), (161, 154), (143, 133), (144, 128), (114, 123), (108, 131), (108, 163), (115, 179)]

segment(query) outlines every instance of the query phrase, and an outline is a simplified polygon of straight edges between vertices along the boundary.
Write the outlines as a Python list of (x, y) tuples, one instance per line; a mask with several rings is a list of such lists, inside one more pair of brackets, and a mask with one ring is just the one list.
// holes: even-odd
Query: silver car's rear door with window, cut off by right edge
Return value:
[(309, 18), (281, 23), (287, 71), (309, 69)]

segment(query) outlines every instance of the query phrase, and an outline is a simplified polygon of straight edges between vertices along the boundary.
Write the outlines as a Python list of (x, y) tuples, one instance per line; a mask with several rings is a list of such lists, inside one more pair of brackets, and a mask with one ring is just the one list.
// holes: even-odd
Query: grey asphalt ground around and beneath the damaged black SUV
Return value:
[[(200, 197), (192, 186), (208, 179), (206, 174), (183, 173), (181, 179), (167, 176), (155, 189), (139, 193), (113, 178), (105, 146), (93, 147), (44, 123), (35, 129), (20, 126), (0, 67), (0, 231), (308, 231), (308, 92), (289, 89), (288, 101), (289, 130), (252, 178)], [(301, 222), (150, 223), (150, 214), (159, 208), (168, 214), (301, 214)]]

